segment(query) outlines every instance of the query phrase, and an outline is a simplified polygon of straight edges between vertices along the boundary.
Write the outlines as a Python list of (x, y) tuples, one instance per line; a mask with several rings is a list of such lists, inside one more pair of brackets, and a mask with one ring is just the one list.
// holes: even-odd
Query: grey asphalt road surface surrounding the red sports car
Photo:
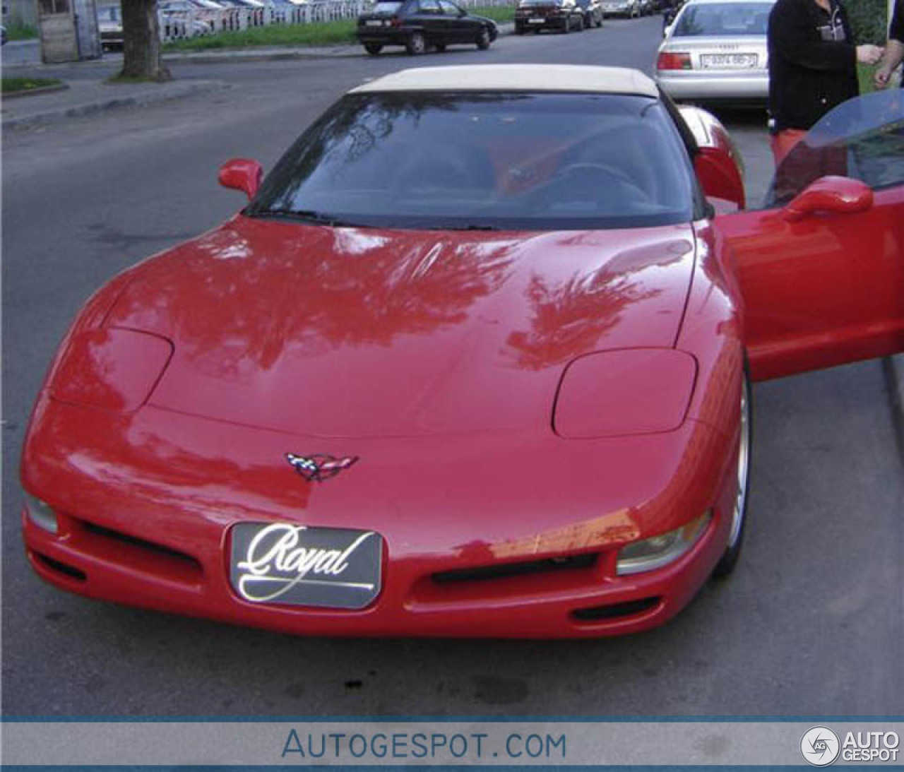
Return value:
[[(6, 132), (3, 705), (6, 716), (888, 715), (904, 713), (904, 475), (879, 362), (758, 385), (745, 554), (671, 624), (591, 642), (337, 640), (102, 605), (43, 584), (19, 538), (19, 450), (42, 373), (106, 278), (241, 204), (222, 160), (271, 165), (344, 89), (411, 65), (649, 70), (659, 18), (411, 60), (189, 65), (231, 89)], [(97, 65), (95, 65), (97, 66)], [(749, 188), (759, 114), (728, 116)]]

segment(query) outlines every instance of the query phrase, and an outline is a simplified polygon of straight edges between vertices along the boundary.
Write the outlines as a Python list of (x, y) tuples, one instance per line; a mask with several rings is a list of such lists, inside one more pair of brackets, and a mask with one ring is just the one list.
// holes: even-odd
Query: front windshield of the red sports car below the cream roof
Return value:
[(690, 221), (695, 187), (663, 105), (581, 93), (368, 93), (292, 146), (246, 212), (419, 229)]

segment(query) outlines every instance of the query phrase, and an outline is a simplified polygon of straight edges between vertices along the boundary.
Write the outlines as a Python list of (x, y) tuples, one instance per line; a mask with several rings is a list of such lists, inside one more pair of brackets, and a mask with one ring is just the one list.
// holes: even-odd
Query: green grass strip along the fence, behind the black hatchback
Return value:
[[(475, 8), (469, 13), (486, 16), (496, 22), (510, 22), (514, 18), (514, 6)], [(341, 45), (356, 42), (355, 20), (341, 22), (315, 22), (313, 24), (269, 24), (252, 27), (243, 32), (203, 35), (186, 40), (168, 42), (165, 52), (215, 51), (231, 48), (255, 48), (258, 46)]]

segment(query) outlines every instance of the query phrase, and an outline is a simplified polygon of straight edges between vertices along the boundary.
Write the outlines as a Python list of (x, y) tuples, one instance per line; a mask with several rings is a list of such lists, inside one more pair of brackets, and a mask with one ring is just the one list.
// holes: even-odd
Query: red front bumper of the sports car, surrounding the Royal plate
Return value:
[[(619, 635), (673, 617), (727, 539), (737, 441), (693, 421), (642, 438), (522, 439), (517, 454), (499, 438), (361, 442), (366, 463), (318, 485), (283, 460), (310, 438), (150, 408), (95, 428), (86, 412), (42, 400), (24, 485), (52, 504), (59, 529), (27, 515), (23, 528), (34, 570), (90, 598), (306, 635)], [(525, 475), (538, 458), (544, 474)], [(618, 544), (707, 509), (707, 531), (682, 558), (616, 576)], [(379, 597), (355, 611), (240, 598), (231, 526), (271, 520), (380, 532)], [(537, 561), (542, 570), (494, 575)]]

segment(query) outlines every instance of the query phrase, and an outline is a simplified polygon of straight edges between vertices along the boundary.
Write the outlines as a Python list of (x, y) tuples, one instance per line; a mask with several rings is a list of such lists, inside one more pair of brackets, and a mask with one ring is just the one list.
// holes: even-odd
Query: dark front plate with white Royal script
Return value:
[(251, 603), (363, 608), (380, 594), (382, 556), (382, 537), (372, 531), (238, 523), (230, 580)]

